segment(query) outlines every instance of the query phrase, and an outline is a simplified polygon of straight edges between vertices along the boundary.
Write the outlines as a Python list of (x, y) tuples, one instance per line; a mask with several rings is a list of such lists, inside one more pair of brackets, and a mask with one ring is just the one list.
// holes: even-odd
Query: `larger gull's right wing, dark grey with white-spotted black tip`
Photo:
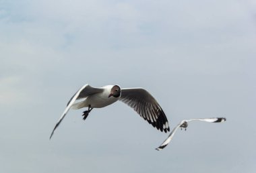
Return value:
[(160, 131), (170, 131), (164, 111), (145, 89), (122, 89), (119, 99), (133, 108), (143, 119)]

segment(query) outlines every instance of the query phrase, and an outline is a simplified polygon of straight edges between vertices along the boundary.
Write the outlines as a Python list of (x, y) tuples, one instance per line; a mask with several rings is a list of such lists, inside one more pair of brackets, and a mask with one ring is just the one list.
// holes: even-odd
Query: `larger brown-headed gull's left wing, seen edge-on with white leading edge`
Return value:
[(103, 89), (91, 87), (89, 84), (85, 84), (81, 89), (79, 89), (67, 103), (67, 107), (65, 108), (64, 112), (62, 113), (61, 117), (59, 118), (59, 121), (55, 125), (53, 132), (51, 133), (50, 139), (53, 136), (55, 129), (59, 126), (61, 121), (64, 119), (65, 115), (67, 115), (67, 112), (69, 111), (69, 109), (71, 108), (71, 106), (73, 105), (73, 103), (76, 100), (83, 99), (83, 98), (88, 97), (89, 95), (94, 95), (96, 93), (101, 93), (101, 92), (103, 92)]

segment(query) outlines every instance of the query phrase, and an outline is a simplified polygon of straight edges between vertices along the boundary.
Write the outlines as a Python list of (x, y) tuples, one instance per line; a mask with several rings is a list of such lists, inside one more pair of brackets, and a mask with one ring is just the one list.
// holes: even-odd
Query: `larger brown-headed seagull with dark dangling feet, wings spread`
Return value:
[[(75, 101), (80, 99), (84, 100), (75, 103)], [(106, 107), (116, 101), (122, 101), (129, 105), (129, 107), (133, 108), (141, 117), (143, 117), (143, 119), (148, 121), (153, 127), (156, 127), (156, 129), (160, 129), (160, 131), (164, 131), (165, 133), (170, 131), (164, 111), (156, 99), (154, 99), (154, 97), (152, 97), (152, 95), (145, 89), (121, 89), (119, 85), (106, 85), (104, 87), (95, 88), (91, 87), (89, 84), (85, 84), (67, 103), (67, 107), (59, 118), (59, 121), (57, 121), (50, 139), (70, 108), (81, 109), (83, 107), (88, 107), (88, 110), (84, 111), (84, 114), (82, 115), (84, 116), (83, 119), (86, 120), (86, 117), (88, 117), (92, 109)]]

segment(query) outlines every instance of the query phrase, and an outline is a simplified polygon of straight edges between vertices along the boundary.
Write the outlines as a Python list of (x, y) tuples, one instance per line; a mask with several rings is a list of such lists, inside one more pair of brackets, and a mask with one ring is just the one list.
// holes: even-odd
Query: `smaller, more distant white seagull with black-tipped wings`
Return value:
[(170, 143), (170, 141), (172, 140), (172, 137), (174, 135), (174, 133), (177, 131), (177, 129), (179, 127), (185, 128), (185, 130), (187, 129), (187, 126), (189, 125), (189, 121), (205, 121), (208, 123), (221, 123), (226, 121), (226, 118), (224, 117), (220, 117), (220, 118), (205, 118), (205, 119), (189, 119), (189, 120), (183, 120), (181, 121), (181, 123), (179, 123), (174, 129), (172, 129), (172, 131), (170, 132), (170, 135), (168, 135), (167, 139), (164, 140), (164, 142), (158, 147), (156, 148), (156, 150), (163, 150), (168, 143)]

